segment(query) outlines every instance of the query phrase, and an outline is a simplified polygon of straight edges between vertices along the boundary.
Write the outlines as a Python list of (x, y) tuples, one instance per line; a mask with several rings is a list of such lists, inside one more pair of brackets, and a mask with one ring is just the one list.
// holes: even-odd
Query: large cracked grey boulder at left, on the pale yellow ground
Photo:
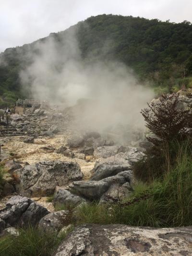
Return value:
[(76, 162), (42, 161), (14, 171), (13, 177), (20, 195), (47, 196), (56, 186), (81, 180), (83, 173)]

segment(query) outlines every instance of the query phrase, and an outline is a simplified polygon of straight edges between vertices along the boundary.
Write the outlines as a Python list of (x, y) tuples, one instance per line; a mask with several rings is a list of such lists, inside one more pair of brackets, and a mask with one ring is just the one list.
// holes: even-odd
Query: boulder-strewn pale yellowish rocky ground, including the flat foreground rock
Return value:
[[(114, 131), (100, 134), (78, 131), (78, 127), (72, 130), (69, 110), (27, 110), (23, 115), (12, 115), (9, 122), (8, 127), (3, 120), (0, 122), (0, 159), (6, 171), (0, 187), (2, 235), (10, 227), (24, 227), (29, 222), (46, 232), (60, 231), (70, 224), (70, 212), (56, 211), (56, 205), (75, 209), (93, 200), (105, 204), (129, 196), (132, 193), (132, 165), (144, 157), (145, 148), (150, 146), (144, 135), (136, 131), (129, 140), (118, 143), (118, 134)], [(49, 196), (52, 202), (47, 201)], [(192, 253), (188, 246), (191, 242), (186, 238), (187, 233), (191, 237), (191, 229), (153, 231), (122, 225), (89, 225), (74, 232), (55, 255)], [(102, 241), (98, 238), (93, 242), (93, 232), (99, 233)], [(170, 243), (164, 241), (164, 236)], [(174, 239), (180, 243), (180, 251), (171, 244)], [(155, 244), (158, 244), (159, 254), (154, 251)], [(96, 249), (100, 245), (101, 249)]]

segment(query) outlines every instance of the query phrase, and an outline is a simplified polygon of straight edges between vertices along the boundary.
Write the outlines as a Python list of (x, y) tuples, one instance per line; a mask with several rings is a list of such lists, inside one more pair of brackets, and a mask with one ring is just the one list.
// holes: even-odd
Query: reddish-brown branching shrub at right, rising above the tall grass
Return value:
[(148, 108), (141, 110), (146, 127), (157, 136), (147, 137), (150, 142), (168, 142), (186, 134), (189, 110), (180, 110), (178, 103), (179, 94), (163, 94), (159, 102), (151, 102)]

